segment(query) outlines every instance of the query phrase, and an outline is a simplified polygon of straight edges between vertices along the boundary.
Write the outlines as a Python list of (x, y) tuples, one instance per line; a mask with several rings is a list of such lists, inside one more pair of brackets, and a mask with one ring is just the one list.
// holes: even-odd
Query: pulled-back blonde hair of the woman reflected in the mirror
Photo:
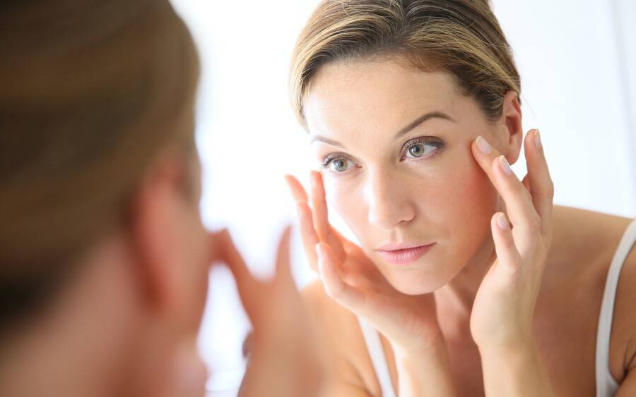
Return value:
[(303, 100), (322, 66), (379, 56), (451, 73), (490, 120), (502, 114), (506, 92), (521, 92), (510, 45), (488, 1), (324, 0), (293, 53), (290, 94), (300, 123), (305, 126)]

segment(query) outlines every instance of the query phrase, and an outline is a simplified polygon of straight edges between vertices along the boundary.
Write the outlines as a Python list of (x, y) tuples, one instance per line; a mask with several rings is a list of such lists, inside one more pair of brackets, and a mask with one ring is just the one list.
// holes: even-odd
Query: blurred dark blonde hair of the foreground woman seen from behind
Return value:
[(168, 0), (9, 1), (0, 24), (2, 322), (125, 224), (161, 149), (194, 147), (199, 60)]

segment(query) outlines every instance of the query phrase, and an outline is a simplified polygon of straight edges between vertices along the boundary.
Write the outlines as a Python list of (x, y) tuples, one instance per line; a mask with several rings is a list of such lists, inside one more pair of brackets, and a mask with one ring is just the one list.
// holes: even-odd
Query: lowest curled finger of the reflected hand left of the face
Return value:
[(365, 305), (365, 296), (344, 282), (334, 252), (326, 243), (317, 245), (319, 270), (327, 295), (352, 312), (359, 314)]

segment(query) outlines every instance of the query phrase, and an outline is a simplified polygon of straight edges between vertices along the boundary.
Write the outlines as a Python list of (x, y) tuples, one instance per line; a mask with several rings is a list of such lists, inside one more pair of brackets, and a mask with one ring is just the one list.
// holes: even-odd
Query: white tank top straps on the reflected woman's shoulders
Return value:
[[(632, 221), (625, 230), (607, 272), (599, 315), (599, 328), (596, 331), (596, 397), (613, 397), (618, 390), (618, 382), (609, 370), (609, 344), (618, 276), (620, 276), (620, 270), (623, 269), (625, 259), (627, 259), (634, 243), (636, 243), (636, 220)], [(371, 363), (382, 390), (382, 397), (395, 397), (389, 366), (384, 356), (379, 334), (365, 319), (358, 317), (358, 322), (367, 343), (367, 350), (369, 350)]]

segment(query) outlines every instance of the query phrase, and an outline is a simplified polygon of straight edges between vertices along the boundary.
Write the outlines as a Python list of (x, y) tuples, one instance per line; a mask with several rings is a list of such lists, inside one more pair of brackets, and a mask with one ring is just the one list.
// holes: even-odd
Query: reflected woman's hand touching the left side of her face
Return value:
[(308, 197), (298, 179), (285, 176), (297, 205), (307, 260), (319, 272), (327, 295), (375, 326), (396, 354), (444, 344), (432, 293), (406, 295), (391, 286), (362, 248), (329, 224), (322, 175), (312, 171), (310, 178)]

